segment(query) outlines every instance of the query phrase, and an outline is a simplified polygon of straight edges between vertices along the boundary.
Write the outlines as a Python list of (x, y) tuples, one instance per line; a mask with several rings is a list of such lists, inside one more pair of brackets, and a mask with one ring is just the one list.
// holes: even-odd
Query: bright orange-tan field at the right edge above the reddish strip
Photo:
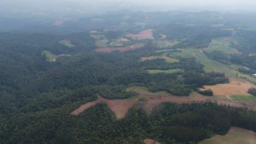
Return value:
[[(215, 96), (232, 96), (232, 95), (241, 95), (241, 96), (251, 96), (251, 94), (247, 93), (247, 90), (251, 87), (256, 86), (249, 82), (241, 81), (239, 79), (235, 79), (229, 77), (230, 83), (228, 84), (217, 84), (214, 86), (203, 86), (205, 89), (213, 90), (213, 94)], [(203, 89), (202, 89), (203, 90)]]

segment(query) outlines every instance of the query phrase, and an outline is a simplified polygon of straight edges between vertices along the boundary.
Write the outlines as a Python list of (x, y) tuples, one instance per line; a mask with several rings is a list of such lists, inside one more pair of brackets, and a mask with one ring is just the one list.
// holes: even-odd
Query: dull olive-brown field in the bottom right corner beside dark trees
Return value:
[(254, 144), (256, 143), (256, 133), (243, 128), (232, 127), (226, 135), (216, 135), (210, 139), (205, 139), (200, 144)]

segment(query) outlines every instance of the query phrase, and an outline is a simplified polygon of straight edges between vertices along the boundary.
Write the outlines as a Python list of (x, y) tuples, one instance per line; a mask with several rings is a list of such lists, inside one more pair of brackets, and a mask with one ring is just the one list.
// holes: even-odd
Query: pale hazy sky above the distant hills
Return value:
[[(154, 10), (247, 10), (256, 11), (256, 0), (0, 0), (0, 12), (51, 14), (100, 14), (121, 9)], [(10, 11), (9, 11), (10, 12)]]

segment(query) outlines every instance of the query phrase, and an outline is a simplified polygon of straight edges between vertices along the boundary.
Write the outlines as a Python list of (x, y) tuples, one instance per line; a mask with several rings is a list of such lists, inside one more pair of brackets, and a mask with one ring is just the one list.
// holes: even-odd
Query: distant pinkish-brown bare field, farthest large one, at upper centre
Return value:
[(140, 31), (139, 34), (128, 34), (127, 37), (131, 37), (132, 39), (144, 40), (144, 39), (155, 39), (153, 37), (154, 29), (147, 29), (145, 31)]

